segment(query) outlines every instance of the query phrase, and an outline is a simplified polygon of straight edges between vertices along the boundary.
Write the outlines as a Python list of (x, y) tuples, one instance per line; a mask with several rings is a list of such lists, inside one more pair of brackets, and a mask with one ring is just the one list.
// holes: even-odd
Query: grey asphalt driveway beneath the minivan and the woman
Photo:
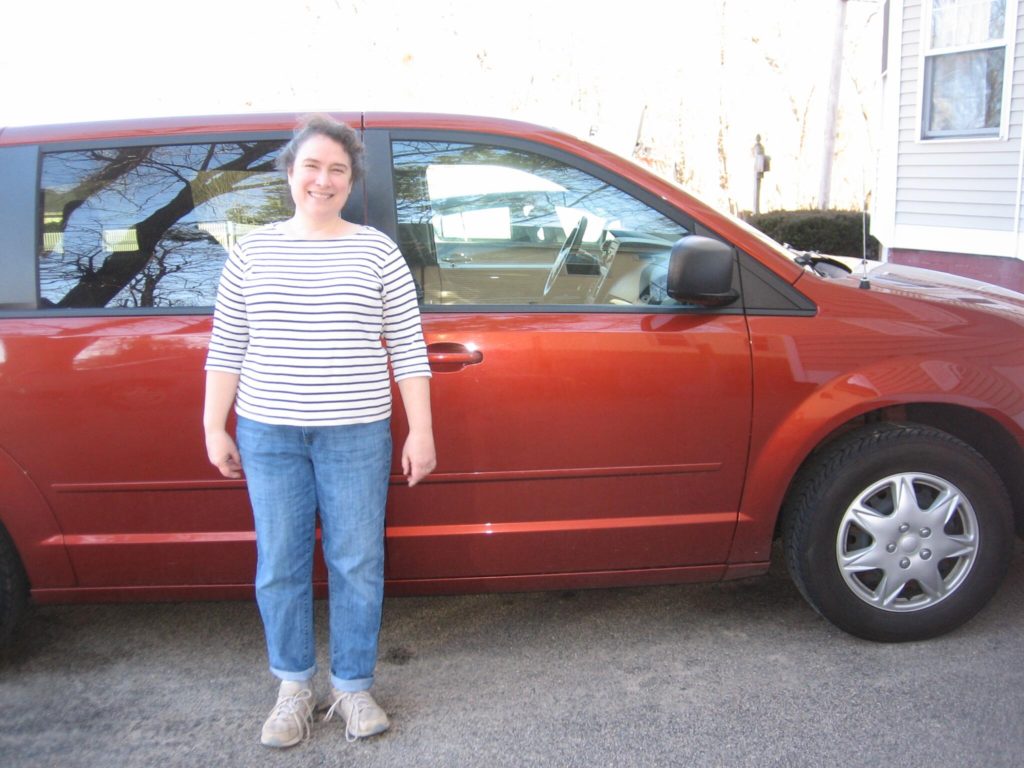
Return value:
[[(317, 603), (323, 629), (326, 605)], [(1024, 547), (971, 624), (879, 645), (776, 567), (718, 585), (389, 598), (392, 728), (259, 744), (252, 603), (36, 608), (0, 654), (0, 766), (1017, 766)], [(326, 637), (321, 634), (322, 668)]]

